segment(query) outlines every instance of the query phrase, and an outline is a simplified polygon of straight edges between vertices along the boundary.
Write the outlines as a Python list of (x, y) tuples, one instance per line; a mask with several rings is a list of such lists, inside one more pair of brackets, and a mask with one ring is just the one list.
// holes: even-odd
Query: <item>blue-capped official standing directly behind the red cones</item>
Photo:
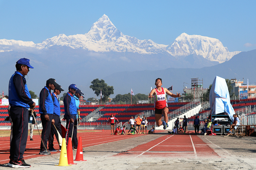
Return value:
[[(67, 134), (66, 134), (66, 142), (68, 144), (68, 137), (72, 136), (72, 129), (74, 126), (74, 132), (77, 131), (77, 119), (76, 119), (76, 114), (77, 114), (77, 108), (76, 108), (76, 101), (73, 97), (73, 95), (76, 93), (76, 90), (78, 88), (76, 87), (75, 84), (71, 84), (68, 86), (68, 93), (64, 97), (63, 103), (64, 103), (64, 111), (65, 115), (64, 118), (66, 119), (66, 129)], [(74, 148), (77, 148), (78, 142), (76, 138), (76, 134), (73, 133), (72, 137), (72, 143), (74, 144)]]

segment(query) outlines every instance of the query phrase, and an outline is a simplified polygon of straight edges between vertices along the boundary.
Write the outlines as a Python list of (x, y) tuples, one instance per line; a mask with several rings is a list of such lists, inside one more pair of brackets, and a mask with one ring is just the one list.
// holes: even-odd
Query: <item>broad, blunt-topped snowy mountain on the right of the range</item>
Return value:
[(229, 52), (220, 40), (201, 35), (188, 35), (182, 33), (167, 48), (173, 56), (188, 56), (191, 54), (202, 55), (210, 61), (223, 63), (230, 60), (241, 51)]

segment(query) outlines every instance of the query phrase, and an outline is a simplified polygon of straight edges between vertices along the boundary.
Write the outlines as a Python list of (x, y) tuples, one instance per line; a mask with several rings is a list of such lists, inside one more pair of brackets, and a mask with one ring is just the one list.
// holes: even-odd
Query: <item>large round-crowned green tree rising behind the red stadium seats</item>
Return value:
[(102, 100), (103, 101), (108, 101), (108, 97), (111, 94), (114, 94), (114, 87), (109, 86), (107, 83), (105, 83), (104, 80), (99, 80), (98, 78), (92, 80), (92, 85), (90, 85), (90, 88), (94, 91), (94, 93), (99, 96), (100, 95), (100, 90), (102, 93)]

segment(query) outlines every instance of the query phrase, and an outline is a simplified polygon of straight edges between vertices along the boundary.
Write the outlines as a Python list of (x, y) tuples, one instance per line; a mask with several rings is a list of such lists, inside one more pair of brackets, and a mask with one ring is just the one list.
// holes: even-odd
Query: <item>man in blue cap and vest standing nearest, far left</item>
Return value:
[(9, 104), (13, 130), (8, 166), (27, 168), (30, 165), (25, 163), (23, 154), (28, 137), (28, 109), (34, 109), (36, 103), (31, 99), (25, 76), (29, 68), (34, 67), (30, 65), (27, 58), (18, 60), (15, 67), (16, 71), (9, 81)]

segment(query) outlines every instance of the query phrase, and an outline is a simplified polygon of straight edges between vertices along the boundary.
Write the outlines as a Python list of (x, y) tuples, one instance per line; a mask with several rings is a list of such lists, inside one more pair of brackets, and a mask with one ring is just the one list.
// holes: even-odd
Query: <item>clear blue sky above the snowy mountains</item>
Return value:
[(181, 33), (219, 39), (229, 51), (256, 49), (256, 1), (0, 0), (0, 39), (40, 43), (87, 33), (106, 14), (125, 35), (170, 44)]

